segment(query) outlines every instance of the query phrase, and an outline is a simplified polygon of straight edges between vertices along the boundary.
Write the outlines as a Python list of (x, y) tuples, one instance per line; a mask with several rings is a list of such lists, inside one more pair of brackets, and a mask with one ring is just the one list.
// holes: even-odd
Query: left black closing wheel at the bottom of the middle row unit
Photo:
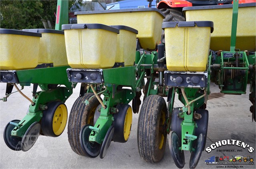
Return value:
[(80, 132), (80, 144), (83, 152), (91, 158), (95, 158), (99, 155), (101, 151), (101, 145), (97, 142), (91, 143), (89, 141), (89, 136), (91, 134), (91, 129), (89, 128), (91, 125), (87, 124), (82, 127)]

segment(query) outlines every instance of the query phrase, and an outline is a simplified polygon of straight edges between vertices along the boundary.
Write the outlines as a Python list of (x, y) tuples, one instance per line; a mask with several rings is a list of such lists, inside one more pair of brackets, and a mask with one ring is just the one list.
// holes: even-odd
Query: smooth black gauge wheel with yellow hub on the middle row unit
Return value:
[(131, 106), (128, 104), (118, 104), (116, 108), (118, 109), (118, 113), (113, 115), (113, 127), (115, 128), (113, 141), (125, 143), (131, 133), (133, 112)]

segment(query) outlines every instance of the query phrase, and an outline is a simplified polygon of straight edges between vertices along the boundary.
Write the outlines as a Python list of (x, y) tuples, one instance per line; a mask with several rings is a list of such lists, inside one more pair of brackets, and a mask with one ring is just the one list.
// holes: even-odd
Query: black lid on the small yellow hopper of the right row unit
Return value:
[(179, 22), (163, 22), (162, 29), (178, 27), (211, 27), (211, 33), (214, 31), (214, 23), (212, 21), (179, 21)]

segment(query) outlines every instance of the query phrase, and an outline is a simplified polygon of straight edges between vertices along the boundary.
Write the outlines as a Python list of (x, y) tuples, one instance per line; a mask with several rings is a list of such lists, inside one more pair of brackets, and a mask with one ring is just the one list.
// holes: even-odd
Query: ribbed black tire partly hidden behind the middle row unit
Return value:
[[(97, 106), (100, 104), (93, 93), (85, 93), (83, 97), (78, 97), (71, 108), (68, 123), (68, 139), (71, 149), (78, 155), (87, 156), (80, 145), (80, 131), (86, 124), (93, 125), (93, 118)], [(89, 99), (88, 105), (82, 101)]]

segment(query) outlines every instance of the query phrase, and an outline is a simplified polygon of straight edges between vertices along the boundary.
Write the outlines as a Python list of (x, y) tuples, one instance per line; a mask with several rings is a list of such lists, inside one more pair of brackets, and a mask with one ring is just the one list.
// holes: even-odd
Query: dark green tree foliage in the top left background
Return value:
[(57, 0), (0, 0), (0, 28), (44, 28), (42, 19), (55, 23), (56, 6)]

